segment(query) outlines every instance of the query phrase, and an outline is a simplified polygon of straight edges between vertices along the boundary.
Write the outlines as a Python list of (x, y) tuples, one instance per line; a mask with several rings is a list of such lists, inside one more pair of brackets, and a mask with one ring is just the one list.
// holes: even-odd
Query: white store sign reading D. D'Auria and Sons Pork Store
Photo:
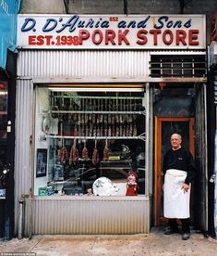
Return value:
[(19, 15), (18, 47), (203, 49), (203, 15)]

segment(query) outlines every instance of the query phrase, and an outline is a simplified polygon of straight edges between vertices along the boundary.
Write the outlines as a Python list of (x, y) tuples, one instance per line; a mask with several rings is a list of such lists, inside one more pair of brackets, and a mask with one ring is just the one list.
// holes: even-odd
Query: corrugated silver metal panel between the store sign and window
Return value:
[(109, 77), (148, 76), (145, 51), (20, 51), (19, 77)]

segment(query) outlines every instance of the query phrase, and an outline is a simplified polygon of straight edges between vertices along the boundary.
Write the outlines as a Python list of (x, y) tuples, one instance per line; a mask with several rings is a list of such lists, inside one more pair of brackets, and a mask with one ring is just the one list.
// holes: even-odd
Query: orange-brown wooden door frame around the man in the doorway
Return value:
[(189, 151), (195, 157), (195, 118), (181, 116), (155, 116), (154, 153), (154, 225), (161, 224), (161, 177), (162, 177), (162, 122), (189, 122)]

